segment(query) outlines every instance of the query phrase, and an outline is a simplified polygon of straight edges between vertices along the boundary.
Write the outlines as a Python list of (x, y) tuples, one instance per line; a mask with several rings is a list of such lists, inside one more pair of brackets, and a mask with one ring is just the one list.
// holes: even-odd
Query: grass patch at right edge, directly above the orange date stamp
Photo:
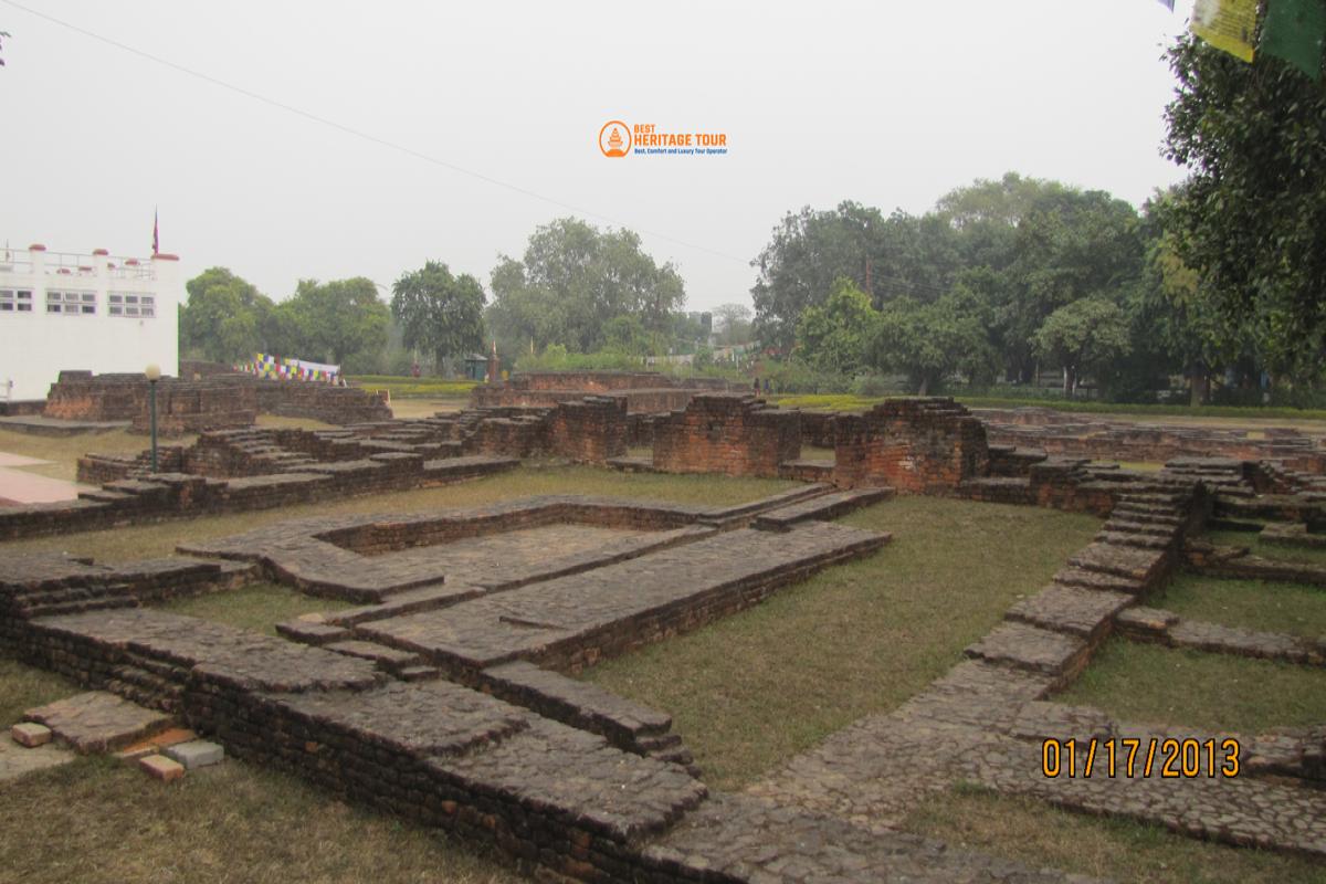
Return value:
[(1150, 604), (1193, 620), (1326, 637), (1326, 591), (1298, 583), (1181, 574)]

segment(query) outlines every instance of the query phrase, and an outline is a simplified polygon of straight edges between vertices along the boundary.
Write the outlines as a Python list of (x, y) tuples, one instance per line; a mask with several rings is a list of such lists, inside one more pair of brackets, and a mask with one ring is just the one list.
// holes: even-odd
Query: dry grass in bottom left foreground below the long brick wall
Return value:
[(0, 879), (143, 884), (524, 880), (440, 832), (228, 759), (162, 785), (81, 758), (0, 786)]

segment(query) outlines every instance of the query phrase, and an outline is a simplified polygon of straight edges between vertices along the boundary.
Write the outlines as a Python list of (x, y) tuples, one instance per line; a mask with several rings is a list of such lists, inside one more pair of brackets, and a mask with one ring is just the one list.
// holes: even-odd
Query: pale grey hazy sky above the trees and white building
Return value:
[[(575, 213), (638, 231), (691, 309), (748, 304), (802, 205), (919, 213), (1008, 170), (1140, 204), (1181, 176), (1160, 56), (1185, 0), (23, 5), (438, 160), (0, 0), (0, 239), (142, 256), (159, 207), (187, 277), (224, 265), (278, 300), (428, 258), (487, 289), (499, 253)], [(609, 159), (610, 119), (721, 131), (729, 154)]]

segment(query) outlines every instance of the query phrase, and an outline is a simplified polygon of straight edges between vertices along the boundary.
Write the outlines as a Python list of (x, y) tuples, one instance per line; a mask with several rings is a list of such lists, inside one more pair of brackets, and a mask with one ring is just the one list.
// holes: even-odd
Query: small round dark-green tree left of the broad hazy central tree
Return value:
[(448, 355), (483, 346), (483, 310), (479, 280), (468, 273), (452, 276), (440, 261), (402, 274), (391, 286), (391, 315), (400, 325), (404, 346), (434, 354), (436, 371)]

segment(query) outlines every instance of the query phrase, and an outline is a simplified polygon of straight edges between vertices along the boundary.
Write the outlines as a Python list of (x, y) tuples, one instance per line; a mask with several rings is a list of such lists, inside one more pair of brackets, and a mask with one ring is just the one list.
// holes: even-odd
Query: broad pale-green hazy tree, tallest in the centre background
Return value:
[(530, 342), (599, 350), (605, 326), (623, 315), (635, 317), (651, 337), (668, 335), (686, 304), (676, 269), (656, 264), (636, 233), (605, 232), (573, 217), (537, 228), (520, 261), (501, 256), (491, 288), (488, 325), (521, 350)]

